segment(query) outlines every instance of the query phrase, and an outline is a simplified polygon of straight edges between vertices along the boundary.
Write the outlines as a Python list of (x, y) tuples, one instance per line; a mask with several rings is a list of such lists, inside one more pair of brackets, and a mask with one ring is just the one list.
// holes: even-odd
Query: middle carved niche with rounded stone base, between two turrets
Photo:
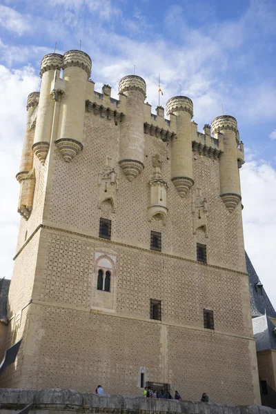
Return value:
[(148, 182), (150, 186), (150, 206), (148, 206), (148, 221), (153, 218), (161, 219), (166, 224), (167, 208), (167, 183), (161, 178), (162, 163), (159, 155), (152, 157), (153, 174)]

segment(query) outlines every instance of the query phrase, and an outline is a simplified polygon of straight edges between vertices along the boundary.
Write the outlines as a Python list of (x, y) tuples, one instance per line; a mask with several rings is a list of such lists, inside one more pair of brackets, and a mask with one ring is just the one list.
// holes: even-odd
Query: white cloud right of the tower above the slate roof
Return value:
[(246, 162), (241, 170), (246, 251), (276, 307), (276, 170), (266, 161)]

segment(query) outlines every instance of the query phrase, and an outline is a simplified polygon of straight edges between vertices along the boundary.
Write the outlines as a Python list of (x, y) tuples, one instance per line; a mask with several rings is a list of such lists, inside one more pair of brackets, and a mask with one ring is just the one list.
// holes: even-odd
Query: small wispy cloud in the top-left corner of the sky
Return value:
[(10, 7), (0, 5), (0, 27), (21, 36), (23, 32), (31, 30), (32, 26), (30, 23), (29, 16), (23, 16)]

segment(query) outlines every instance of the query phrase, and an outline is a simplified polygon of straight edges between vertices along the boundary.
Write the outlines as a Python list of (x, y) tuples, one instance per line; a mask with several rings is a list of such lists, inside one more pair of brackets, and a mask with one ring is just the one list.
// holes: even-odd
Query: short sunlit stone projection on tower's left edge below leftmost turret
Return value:
[(34, 199), (34, 187), (35, 187), (35, 173), (34, 168), (28, 172), (28, 174), (21, 179), (18, 213), (26, 220), (32, 213), (32, 203)]

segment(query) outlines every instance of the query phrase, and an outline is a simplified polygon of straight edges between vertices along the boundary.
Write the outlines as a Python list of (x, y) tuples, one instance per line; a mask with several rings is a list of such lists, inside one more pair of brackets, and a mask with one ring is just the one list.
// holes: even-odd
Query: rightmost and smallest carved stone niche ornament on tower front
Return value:
[(192, 201), (193, 214), (193, 233), (195, 235), (197, 228), (203, 228), (205, 237), (208, 237), (207, 217), (208, 206), (207, 200), (202, 196), (201, 188), (197, 187), (195, 194), (193, 194)]

